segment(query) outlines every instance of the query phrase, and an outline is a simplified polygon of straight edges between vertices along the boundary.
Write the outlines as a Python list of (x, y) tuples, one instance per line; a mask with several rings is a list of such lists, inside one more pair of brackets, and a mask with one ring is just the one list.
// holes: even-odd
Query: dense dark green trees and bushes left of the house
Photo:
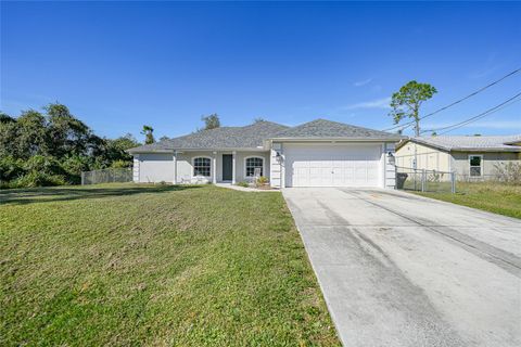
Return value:
[(63, 104), (43, 111), (0, 113), (1, 188), (77, 184), (81, 171), (131, 166), (131, 134), (101, 138)]

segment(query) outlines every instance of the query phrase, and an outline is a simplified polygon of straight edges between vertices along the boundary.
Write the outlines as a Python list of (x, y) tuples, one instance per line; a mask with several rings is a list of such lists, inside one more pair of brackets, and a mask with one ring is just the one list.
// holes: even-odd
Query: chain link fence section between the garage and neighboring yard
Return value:
[(456, 174), (396, 166), (396, 188), (418, 192), (456, 193)]

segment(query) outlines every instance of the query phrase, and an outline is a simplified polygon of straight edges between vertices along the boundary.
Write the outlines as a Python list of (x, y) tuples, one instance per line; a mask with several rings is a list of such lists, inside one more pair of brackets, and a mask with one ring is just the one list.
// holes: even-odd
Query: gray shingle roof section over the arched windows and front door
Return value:
[(278, 133), (287, 126), (257, 121), (245, 127), (220, 127), (211, 130), (198, 131), (179, 138), (163, 140), (153, 144), (130, 149), (130, 153), (170, 152), (173, 150), (189, 149), (256, 149), (263, 141)]

